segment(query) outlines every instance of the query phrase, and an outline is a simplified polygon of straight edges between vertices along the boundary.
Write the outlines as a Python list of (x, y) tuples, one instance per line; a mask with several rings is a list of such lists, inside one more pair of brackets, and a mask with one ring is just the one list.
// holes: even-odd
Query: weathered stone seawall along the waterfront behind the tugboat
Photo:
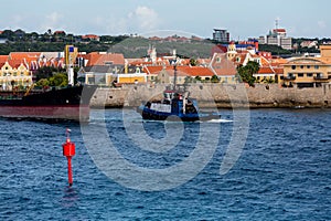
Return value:
[[(121, 88), (98, 88), (90, 106), (135, 107), (141, 102), (158, 99), (167, 85), (125, 85)], [(316, 88), (282, 88), (277, 84), (192, 84), (186, 87), (190, 96), (199, 101), (201, 107), (331, 107), (331, 84)]]

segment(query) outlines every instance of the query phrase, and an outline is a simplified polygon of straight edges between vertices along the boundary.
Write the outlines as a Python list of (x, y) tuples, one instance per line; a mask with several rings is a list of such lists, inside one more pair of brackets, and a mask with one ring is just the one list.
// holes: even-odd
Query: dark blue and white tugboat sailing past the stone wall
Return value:
[(137, 108), (143, 119), (205, 122), (221, 118), (218, 113), (201, 112), (196, 99), (190, 98), (188, 92), (177, 90), (175, 78), (177, 69), (174, 66), (173, 88), (163, 92), (162, 101), (147, 102)]

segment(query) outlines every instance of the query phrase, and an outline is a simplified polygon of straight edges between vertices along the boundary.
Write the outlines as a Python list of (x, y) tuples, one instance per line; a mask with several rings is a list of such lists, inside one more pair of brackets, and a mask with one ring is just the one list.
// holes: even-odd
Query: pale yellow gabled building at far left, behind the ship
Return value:
[(0, 88), (29, 87), (33, 84), (32, 73), (22, 63), (6, 62), (0, 70)]

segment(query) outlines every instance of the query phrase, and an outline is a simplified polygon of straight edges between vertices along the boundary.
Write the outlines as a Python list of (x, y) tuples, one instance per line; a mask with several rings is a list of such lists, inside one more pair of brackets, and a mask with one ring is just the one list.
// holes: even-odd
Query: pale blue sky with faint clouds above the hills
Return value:
[(322, 39), (331, 38), (330, 8), (330, 0), (10, 0), (2, 3), (0, 30), (212, 39), (216, 28), (247, 40), (266, 35), (278, 20), (288, 36)]

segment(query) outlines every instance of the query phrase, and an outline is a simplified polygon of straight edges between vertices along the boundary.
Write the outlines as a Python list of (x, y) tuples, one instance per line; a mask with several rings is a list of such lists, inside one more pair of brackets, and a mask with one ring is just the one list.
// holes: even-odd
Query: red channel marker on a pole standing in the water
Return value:
[(67, 159), (67, 178), (70, 187), (73, 186), (73, 169), (72, 169), (72, 157), (75, 156), (75, 144), (70, 138), (71, 129), (66, 129), (66, 141), (62, 145), (63, 156)]

